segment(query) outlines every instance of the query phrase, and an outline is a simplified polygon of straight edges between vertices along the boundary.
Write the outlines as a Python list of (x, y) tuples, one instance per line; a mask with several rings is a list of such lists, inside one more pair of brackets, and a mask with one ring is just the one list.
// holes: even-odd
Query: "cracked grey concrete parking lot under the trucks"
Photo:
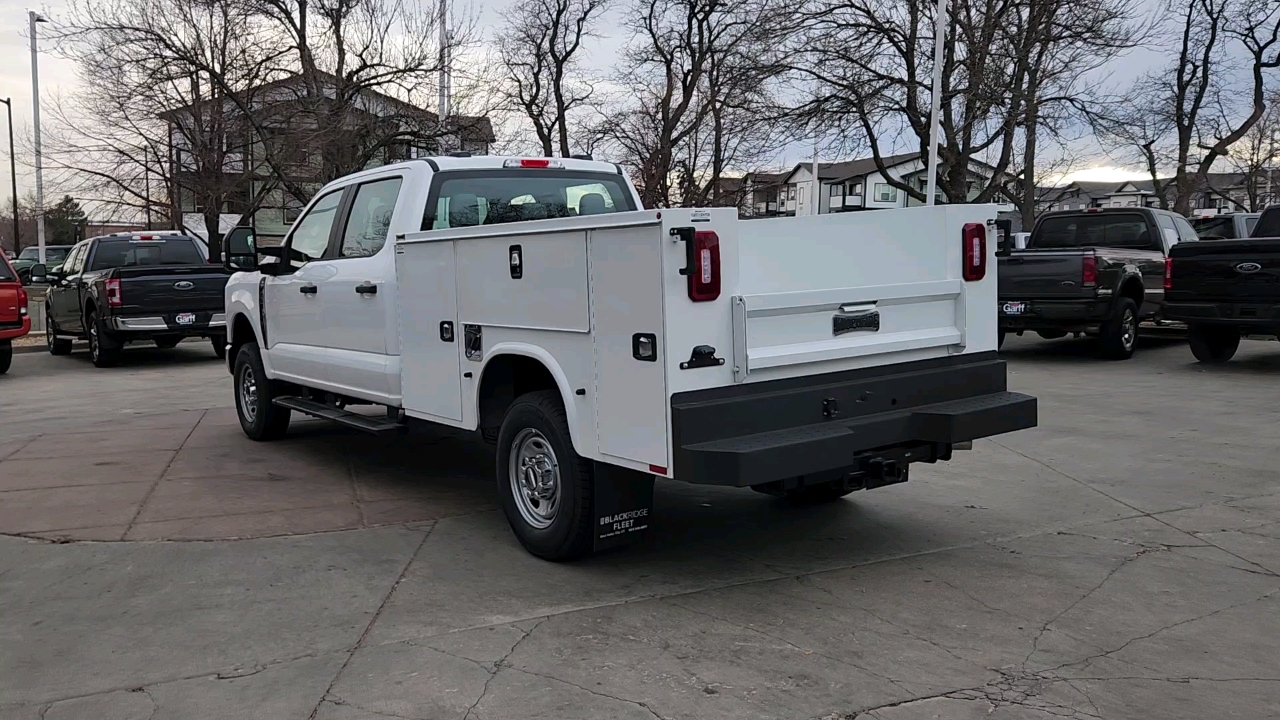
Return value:
[(207, 343), (0, 377), (0, 719), (1280, 716), (1280, 343), (1010, 338), (1033, 430), (553, 565), (468, 436), (257, 445)]

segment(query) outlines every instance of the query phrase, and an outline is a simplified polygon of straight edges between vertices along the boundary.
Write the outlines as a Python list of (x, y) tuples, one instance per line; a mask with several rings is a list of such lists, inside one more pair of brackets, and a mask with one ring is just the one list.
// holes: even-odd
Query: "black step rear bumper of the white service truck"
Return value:
[[(956, 443), (1036, 427), (995, 352), (741, 384), (672, 397), (676, 479), (758, 486), (877, 475)], [(874, 479), (874, 478), (873, 478)]]

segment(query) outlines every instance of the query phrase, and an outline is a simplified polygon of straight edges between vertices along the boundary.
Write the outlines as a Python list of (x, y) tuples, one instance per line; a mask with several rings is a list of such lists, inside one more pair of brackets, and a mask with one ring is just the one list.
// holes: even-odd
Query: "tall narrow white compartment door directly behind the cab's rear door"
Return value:
[(401, 392), (404, 410), (462, 420), (461, 350), (454, 254), (457, 241), (396, 246)]

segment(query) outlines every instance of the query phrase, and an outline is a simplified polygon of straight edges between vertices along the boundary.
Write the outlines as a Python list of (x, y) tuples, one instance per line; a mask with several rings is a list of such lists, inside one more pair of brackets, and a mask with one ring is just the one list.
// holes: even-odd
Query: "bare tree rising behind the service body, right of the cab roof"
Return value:
[[(717, 201), (728, 169), (786, 141), (765, 113), (781, 72), (781, 3), (640, 0), (618, 82), (630, 94), (600, 126), (645, 206)], [(742, 165), (746, 165), (745, 168)]]

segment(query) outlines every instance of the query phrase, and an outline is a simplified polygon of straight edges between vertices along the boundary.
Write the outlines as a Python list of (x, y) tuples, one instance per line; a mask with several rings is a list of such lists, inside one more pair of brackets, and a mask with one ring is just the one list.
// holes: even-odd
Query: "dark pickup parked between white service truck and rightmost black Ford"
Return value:
[(1105, 357), (1132, 357), (1138, 324), (1164, 322), (1169, 250), (1197, 240), (1185, 218), (1155, 208), (1041, 215), (1024, 250), (998, 252), (1000, 341), (1097, 333)]

